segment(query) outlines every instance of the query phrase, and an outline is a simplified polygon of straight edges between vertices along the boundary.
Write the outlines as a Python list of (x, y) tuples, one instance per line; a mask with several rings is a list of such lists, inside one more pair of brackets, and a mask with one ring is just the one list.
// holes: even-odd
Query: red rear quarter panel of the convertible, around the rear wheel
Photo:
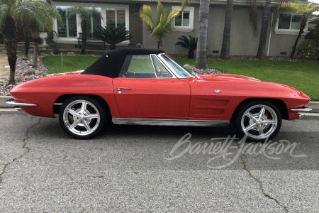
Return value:
[(106, 100), (111, 114), (120, 116), (113, 94), (112, 78), (99, 75), (56, 75), (42, 77), (11, 89), (15, 102), (37, 104), (21, 107), (35, 116), (54, 117), (53, 104), (65, 94), (94, 94)]

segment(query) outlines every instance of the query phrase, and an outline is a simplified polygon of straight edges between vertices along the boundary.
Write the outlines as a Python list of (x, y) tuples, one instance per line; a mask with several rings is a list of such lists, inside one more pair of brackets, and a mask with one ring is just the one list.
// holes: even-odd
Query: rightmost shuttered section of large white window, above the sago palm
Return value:
[(125, 28), (125, 9), (106, 9), (106, 26)]

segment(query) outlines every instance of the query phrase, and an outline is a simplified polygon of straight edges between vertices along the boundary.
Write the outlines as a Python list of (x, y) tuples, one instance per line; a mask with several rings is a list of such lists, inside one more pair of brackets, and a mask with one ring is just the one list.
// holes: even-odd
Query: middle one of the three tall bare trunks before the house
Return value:
[(221, 59), (229, 59), (229, 56), (230, 56), (230, 29), (232, 27), (232, 18), (233, 18), (233, 0), (227, 0), (223, 44), (222, 44), (222, 49), (220, 51)]

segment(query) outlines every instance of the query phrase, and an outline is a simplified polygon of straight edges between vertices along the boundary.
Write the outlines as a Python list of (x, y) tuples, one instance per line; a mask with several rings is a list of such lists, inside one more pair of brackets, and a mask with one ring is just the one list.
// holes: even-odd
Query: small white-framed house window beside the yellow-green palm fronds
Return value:
[[(173, 6), (172, 9), (177, 6)], [(176, 31), (191, 32), (194, 30), (194, 7), (186, 6), (184, 11), (181, 11), (172, 20), (172, 25)]]

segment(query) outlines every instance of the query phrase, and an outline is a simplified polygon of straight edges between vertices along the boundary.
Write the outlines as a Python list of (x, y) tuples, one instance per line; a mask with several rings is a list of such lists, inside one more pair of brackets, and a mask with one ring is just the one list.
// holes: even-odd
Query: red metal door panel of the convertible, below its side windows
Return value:
[[(125, 87), (119, 93), (117, 88)], [(189, 119), (191, 88), (187, 80), (114, 78), (121, 117)]]

